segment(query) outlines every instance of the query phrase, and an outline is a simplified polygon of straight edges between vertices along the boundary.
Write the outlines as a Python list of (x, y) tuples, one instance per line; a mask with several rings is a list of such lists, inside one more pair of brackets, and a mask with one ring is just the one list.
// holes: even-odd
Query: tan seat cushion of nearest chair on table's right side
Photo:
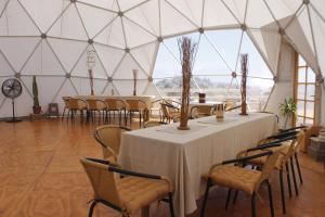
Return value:
[(219, 166), (209, 176), (219, 186), (252, 194), (261, 171), (237, 166)]

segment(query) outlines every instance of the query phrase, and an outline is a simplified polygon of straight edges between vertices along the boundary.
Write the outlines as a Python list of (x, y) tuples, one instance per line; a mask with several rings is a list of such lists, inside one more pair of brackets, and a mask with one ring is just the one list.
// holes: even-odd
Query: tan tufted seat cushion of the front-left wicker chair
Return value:
[(117, 183), (120, 200), (129, 214), (165, 197), (171, 188), (165, 180), (125, 177)]

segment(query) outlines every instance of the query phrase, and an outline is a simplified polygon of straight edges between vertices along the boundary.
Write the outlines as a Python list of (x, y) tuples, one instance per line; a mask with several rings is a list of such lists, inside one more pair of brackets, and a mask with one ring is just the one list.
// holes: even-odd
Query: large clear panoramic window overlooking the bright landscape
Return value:
[[(240, 29), (209, 30), (187, 35), (197, 44), (191, 84), (191, 99), (206, 93), (209, 102), (226, 100), (240, 102), (240, 54), (248, 53), (249, 72), (247, 101), (249, 111), (262, 111), (274, 85), (273, 75), (253, 46)], [(153, 78), (162, 97), (181, 98), (181, 65), (178, 39), (160, 43)]]

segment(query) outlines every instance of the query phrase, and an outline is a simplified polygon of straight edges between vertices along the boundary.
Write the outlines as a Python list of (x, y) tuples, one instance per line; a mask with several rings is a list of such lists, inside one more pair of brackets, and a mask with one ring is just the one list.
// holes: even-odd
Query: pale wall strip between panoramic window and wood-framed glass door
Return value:
[[(284, 102), (285, 99), (294, 98), (294, 79), (295, 79), (295, 50), (294, 48), (282, 40), (277, 82), (274, 86), (273, 92), (270, 95), (270, 100), (265, 111), (277, 114), (280, 117), (280, 127), (284, 126), (284, 118), (280, 115), (278, 105)], [(290, 126), (291, 122), (288, 122)], [(287, 127), (288, 127), (287, 126)]]

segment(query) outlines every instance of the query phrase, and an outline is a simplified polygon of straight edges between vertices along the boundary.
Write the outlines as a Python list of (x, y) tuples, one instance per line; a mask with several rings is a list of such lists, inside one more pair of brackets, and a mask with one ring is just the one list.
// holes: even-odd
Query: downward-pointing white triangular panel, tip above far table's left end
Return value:
[[(87, 42), (75, 41), (75, 40), (64, 40), (56, 38), (48, 38), (49, 43), (55, 52), (55, 55), (58, 58), (63, 64), (66, 72), (70, 72), (74, 65), (79, 60), (81, 53), (88, 47)], [(68, 52), (67, 49), (68, 48)]]

